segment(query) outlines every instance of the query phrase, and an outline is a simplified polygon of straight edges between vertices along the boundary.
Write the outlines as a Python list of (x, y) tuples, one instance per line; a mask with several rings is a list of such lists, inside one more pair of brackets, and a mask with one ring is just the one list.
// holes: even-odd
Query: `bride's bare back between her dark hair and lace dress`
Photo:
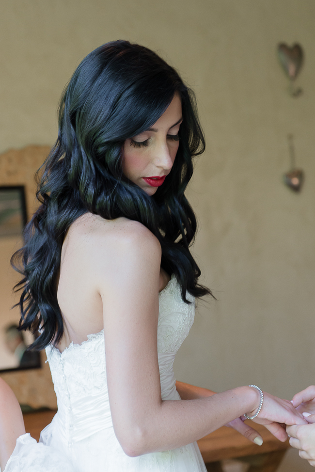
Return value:
[[(103, 329), (103, 304), (98, 290), (99, 281), (94, 267), (99, 264), (98, 251), (117, 250), (117, 238), (128, 231), (130, 220), (104, 220), (86, 213), (79, 217), (66, 233), (60, 263), (57, 299), (63, 315), (64, 335), (58, 345), (62, 352), (73, 341), (81, 344), (87, 335)], [(102, 247), (101, 247), (102, 246)], [(106, 264), (106, 260), (104, 260)], [(159, 275), (159, 291), (170, 276), (163, 270)]]

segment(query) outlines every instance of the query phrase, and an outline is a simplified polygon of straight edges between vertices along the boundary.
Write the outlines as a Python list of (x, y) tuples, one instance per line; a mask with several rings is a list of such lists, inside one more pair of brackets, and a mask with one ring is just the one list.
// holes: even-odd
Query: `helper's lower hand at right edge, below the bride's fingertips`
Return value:
[(307, 420), (309, 425), (287, 426), (286, 432), (291, 446), (299, 449), (299, 456), (315, 467), (315, 415), (308, 416)]

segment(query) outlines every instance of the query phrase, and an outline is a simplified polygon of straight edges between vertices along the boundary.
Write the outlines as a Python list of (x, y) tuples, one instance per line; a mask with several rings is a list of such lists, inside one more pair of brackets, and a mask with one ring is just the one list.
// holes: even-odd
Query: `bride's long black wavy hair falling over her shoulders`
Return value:
[[(163, 185), (148, 196), (124, 176), (122, 147), (157, 121), (176, 92), (183, 112), (178, 152)], [(144, 224), (158, 238), (161, 267), (176, 275), (186, 303), (187, 291), (195, 297), (211, 293), (198, 284), (201, 272), (189, 252), (197, 225), (184, 194), (192, 157), (204, 150), (194, 94), (156, 53), (113, 41), (83, 59), (61, 97), (58, 139), (36, 174), (40, 206), (11, 259), (23, 275), (15, 286), (22, 291), (19, 328), (38, 333), (41, 327), (31, 348), (57, 344), (63, 336), (57, 300), (63, 239), (86, 212)]]

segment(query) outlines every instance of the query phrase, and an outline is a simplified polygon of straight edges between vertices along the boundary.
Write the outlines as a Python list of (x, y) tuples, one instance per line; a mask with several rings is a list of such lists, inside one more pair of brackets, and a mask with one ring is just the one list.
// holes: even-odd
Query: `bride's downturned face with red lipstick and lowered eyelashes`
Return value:
[(182, 104), (179, 94), (175, 93), (153, 126), (125, 142), (123, 172), (148, 195), (153, 195), (171, 172), (182, 121)]

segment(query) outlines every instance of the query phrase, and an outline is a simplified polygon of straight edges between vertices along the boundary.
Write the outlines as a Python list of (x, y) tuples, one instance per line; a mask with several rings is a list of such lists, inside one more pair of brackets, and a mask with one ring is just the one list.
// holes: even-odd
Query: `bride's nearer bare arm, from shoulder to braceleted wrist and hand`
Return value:
[[(143, 225), (124, 221), (112, 239), (94, 244), (92, 263), (103, 301), (113, 426), (126, 454), (138, 456), (180, 447), (250, 415), (260, 394), (238, 387), (206, 398), (162, 401), (157, 361), (161, 248)], [(259, 416), (267, 424), (304, 423), (290, 402), (268, 394)]]

